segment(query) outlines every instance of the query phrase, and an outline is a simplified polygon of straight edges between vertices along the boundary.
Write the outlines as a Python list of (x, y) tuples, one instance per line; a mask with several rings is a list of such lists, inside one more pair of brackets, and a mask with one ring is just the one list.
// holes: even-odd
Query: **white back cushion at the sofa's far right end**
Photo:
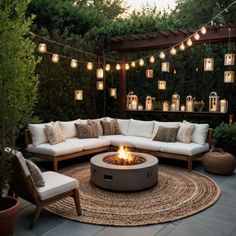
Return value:
[(195, 125), (195, 129), (192, 134), (192, 142), (199, 144), (204, 144), (206, 142), (207, 133), (209, 129), (208, 124), (195, 124), (195, 123), (190, 123), (186, 120), (184, 120), (183, 123)]

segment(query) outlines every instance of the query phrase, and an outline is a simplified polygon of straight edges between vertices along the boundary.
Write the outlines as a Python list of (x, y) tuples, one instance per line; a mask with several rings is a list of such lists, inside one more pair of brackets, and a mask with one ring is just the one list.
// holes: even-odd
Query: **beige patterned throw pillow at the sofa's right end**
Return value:
[(180, 123), (176, 140), (182, 143), (191, 143), (194, 129), (195, 125)]

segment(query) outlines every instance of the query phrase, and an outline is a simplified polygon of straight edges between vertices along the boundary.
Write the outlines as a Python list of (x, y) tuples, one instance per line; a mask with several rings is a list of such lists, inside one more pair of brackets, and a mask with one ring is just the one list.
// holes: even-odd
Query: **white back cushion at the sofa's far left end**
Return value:
[(49, 123), (43, 123), (43, 124), (29, 124), (28, 128), (31, 133), (32, 143), (34, 146), (37, 146), (42, 143), (48, 143), (48, 138), (45, 133), (45, 125), (46, 124), (52, 124), (52, 122)]

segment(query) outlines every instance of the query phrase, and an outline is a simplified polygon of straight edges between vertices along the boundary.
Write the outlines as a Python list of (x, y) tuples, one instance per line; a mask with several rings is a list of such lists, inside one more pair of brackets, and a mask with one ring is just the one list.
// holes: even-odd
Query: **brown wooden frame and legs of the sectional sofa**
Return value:
[[(208, 134), (207, 134), (207, 142), (208, 142), (210, 147), (212, 146), (212, 133), (213, 133), (213, 129), (209, 128), (208, 129)], [(26, 142), (26, 146), (28, 144), (32, 143), (31, 134), (30, 134), (29, 129), (25, 129), (25, 142)], [(32, 156), (35, 156), (35, 157), (39, 157), (41, 159), (52, 161), (53, 170), (58, 171), (58, 162), (59, 161), (68, 160), (68, 159), (71, 159), (71, 158), (76, 158), (76, 157), (84, 156), (84, 155), (87, 155), (87, 154), (110, 151), (112, 149), (113, 150), (117, 149), (117, 147), (108, 145), (108, 146), (104, 146), (104, 147), (100, 147), (100, 148), (94, 148), (94, 149), (90, 149), (90, 150), (83, 150), (83, 151), (74, 152), (74, 153), (61, 155), (61, 156), (49, 156), (49, 155), (40, 154), (40, 153), (36, 153), (36, 152), (29, 152), (27, 150), (25, 150), (25, 154), (29, 154), (29, 155), (32, 155)], [(202, 157), (205, 154), (205, 152), (203, 152), (203, 153), (199, 153), (199, 154), (194, 155), (194, 156), (187, 156), (187, 155), (180, 155), (180, 154), (174, 154), (174, 153), (151, 151), (151, 150), (146, 150), (146, 149), (138, 149), (138, 148), (130, 148), (130, 149), (132, 151), (144, 152), (144, 153), (148, 153), (148, 154), (151, 154), (151, 155), (157, 156), (157, 157), (187, 161), (189, 171), (192, 171), (193, 161), (196, 160), (197, 158)]]

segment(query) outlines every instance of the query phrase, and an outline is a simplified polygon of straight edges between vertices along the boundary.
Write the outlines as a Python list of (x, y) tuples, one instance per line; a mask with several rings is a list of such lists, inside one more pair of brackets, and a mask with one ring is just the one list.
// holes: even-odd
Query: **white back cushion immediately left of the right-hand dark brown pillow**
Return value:
[(130, 119), (127, 135), (151, 138), (154, 121), (142, 121)]

